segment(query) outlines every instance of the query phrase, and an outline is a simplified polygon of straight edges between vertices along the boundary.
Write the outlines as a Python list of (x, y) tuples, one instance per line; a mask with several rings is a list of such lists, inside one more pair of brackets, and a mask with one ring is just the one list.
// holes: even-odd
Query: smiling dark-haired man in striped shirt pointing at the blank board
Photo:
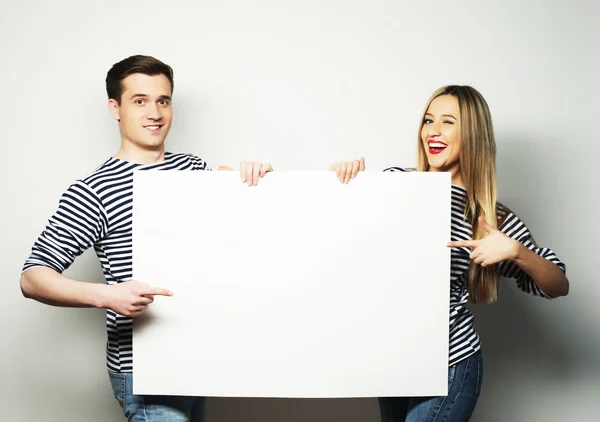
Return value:
[[(173, 114), (170, 66), (153, 57), (129, 57), (109, 70), (106, 91), (109, 111), (119, 125), (121, 147), (64, 192), (25, 262), (21, 290), (25, 297), (50, 305), (107, 310), (109, 377), (130, 421), (200, 421), (204, 398), (132, 393), (132, 318), (144, 312), (154, 296), (171, 296), (172, 292), (132, 280), (131, 223), (135, 171), (209, 168), (194, 155), (165, 152)], [(242, 162), (240, 177), (254, 186), (271, 170), (268, 164)], [(106, 284), (62, 275), (90, 247), (100, 260)]]

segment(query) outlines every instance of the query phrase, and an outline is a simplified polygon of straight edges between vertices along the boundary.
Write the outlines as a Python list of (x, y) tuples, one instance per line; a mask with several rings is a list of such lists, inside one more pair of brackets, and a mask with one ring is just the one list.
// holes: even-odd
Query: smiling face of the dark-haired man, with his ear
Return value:
[(134, 73), (122, 84), (121, 104), (109, 100), (122, 141), (142, 150), (162, 149), (173, 118), (169, 80), (165, 75)]

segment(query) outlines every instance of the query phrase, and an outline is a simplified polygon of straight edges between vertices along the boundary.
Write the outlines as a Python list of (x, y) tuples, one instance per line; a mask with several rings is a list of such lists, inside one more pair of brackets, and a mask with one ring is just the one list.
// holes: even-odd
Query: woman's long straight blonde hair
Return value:
[[(418, 171), (428, 171), (429, 162), (421, 141), (425, 113), (431, 102), (442, 95), (451, 95), (460, 110), (460, 171), (467, 190), (465, 219), (470, 220), (473, 239), (486, 236), (479, 227), (482, 217), (491, 227), (498, 225), (496, 210), (496, 141), (492, 116), (483, 96), (470, 86), (449, 85), (435, 91), (425, 107), (419, 126)], [(497, 266), (481, 267), (471, 261), (467, 276), (467, 291), (473, 303), (491, 303), (498, 298)]]

